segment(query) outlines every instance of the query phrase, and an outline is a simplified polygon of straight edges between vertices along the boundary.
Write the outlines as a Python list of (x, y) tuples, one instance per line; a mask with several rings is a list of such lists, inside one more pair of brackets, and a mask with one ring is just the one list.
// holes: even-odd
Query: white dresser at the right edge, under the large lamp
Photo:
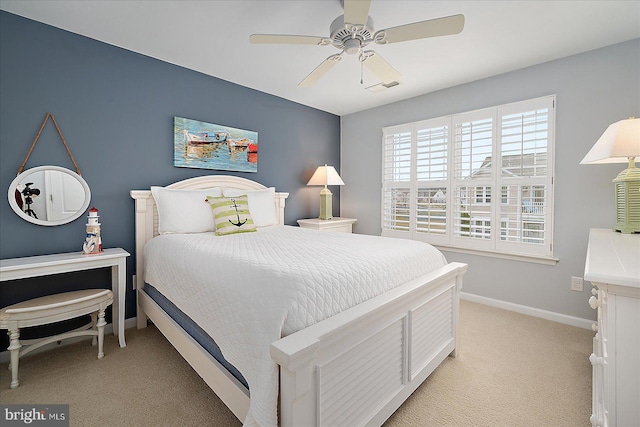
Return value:
[(593, 426), (640, 426), (640, 235), (592, 229), (584, 278), (594, 286)]

